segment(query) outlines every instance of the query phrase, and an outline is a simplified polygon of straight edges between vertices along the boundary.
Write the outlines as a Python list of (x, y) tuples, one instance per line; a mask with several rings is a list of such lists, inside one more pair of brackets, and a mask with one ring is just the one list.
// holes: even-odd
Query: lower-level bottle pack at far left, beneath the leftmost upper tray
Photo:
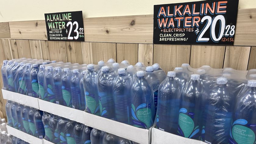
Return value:
[[(45, 132), (42, 122), (42, 111), (10, 100), (7, 100), (5, 109), (8, 121), (7, 125), (39, 139), (44, 138)], [(1, 126), (4, 128), (5, 123), (2, 123)]]

